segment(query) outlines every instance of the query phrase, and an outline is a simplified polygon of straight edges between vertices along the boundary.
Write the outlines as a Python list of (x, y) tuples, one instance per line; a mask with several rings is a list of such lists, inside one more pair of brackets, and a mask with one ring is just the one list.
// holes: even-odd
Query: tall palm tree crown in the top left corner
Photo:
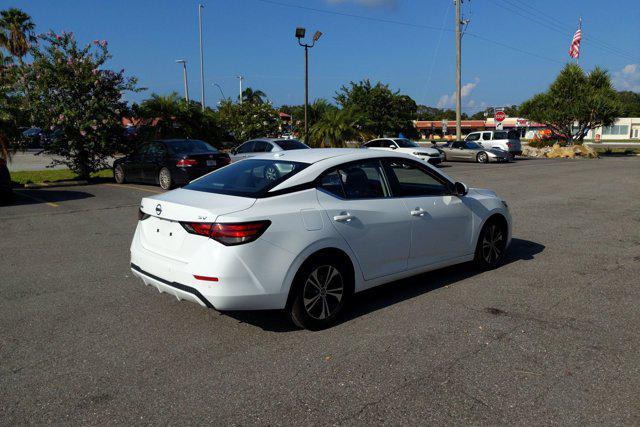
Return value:
[(29, 50), (29, 43), (36, 40), (35, 25), (31, 17), (15, 7), (0, 11), (0, 46), (24, 64), (22, 58)]

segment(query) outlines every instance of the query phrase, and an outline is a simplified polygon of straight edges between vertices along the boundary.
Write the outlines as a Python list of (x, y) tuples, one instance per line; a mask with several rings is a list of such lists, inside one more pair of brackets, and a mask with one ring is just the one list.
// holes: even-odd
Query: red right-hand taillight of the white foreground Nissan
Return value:
[(271, 221), (237, 223), (182, 222), (188, 233), (210, 237), (225, 246), (253, 242), (265, 232)]

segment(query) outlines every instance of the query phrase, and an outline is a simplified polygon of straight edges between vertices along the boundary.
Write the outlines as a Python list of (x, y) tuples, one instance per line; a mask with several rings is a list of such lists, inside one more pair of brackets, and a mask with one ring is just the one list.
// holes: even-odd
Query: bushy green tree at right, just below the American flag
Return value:
[(549, 90), (524, 102), (520, 113), (572, 143), (582, 143), (590, 129), (613, 123), (619, 107), (606, 71), (596, 67), (585, 74), (577, 64), (567, 64)]

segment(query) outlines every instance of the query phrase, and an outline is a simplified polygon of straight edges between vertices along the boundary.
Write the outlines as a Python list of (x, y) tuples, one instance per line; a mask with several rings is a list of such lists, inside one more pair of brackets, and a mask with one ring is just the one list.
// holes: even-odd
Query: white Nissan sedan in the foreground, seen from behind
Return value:
[(409, 155), (294, 150), (142, 199), (131, 269), (181, 300), (285, 309), (319, 329), (355, 292), (466, 261), (496, 267), (510, 238), (494, 192)]

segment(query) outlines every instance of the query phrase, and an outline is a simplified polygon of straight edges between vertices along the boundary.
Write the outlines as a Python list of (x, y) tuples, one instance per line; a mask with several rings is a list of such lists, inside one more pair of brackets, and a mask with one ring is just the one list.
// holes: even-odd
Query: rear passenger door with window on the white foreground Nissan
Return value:
[(330, 169), (321, 177), (317, 195), (355, 254), (365, 280), (407, 268), (411, 217), (402, 200), (390, 197), (379, 160)]

